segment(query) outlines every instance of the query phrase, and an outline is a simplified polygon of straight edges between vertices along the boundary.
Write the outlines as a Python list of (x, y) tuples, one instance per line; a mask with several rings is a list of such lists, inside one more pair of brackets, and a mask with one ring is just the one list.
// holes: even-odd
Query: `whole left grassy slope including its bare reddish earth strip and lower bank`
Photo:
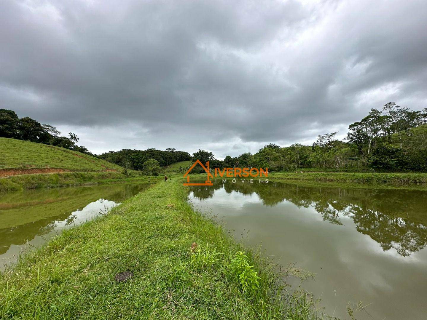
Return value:
[(148, 178), (128, 177), (122, 167), (77, 151), (0, 138), (0, 192), (131, 180)]

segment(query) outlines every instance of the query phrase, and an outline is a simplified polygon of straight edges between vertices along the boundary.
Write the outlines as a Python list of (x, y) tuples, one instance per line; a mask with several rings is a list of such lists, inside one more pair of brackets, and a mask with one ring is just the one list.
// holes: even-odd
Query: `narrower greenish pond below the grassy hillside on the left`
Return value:
[(148, 185), (112, 183), (0, 193), (0, 268), (16, 262), (23, 250), (102, 215)]

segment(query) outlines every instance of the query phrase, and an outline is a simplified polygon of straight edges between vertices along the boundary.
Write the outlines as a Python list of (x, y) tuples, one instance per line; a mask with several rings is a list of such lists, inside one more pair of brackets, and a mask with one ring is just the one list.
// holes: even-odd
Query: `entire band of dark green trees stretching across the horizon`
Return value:
[[(210, 161), (211, 169), (233, 167), (269, 168), (269, 171), (298, 171), (303, 168), (335, 170), (417, 171), (427, 172), (427, 108), (413, 111), (395, 102), (386, 103), (381, 110), (371, 111), (348, 127), (344, 141), (336, 139), (337, 132), (319, 135), (312, 145), (294, 143), (281, 147), (265, 145), (255, 154), (245, 152), (237, 157), (217, 160), (212, 152), (199, 150), (190, 156), (184, 151), (167, 148), (165, 151), (123, 149), (105, 152), (98, 157), (125, 169), (159, 174), (160, 168), (171, 163), (199, 159)], [(76, 145), (79, 138), (69, 133), (60, 137), (51, 125), (42, 125), (29, 117), (18, 118), (12, 110), (0, 109), (0, 137), (15, 138), (91, 154), (85, 146)], [(150, 161), (149, 161), (150, 160)], [(147, 161), (149, 161), (147, 163)], [(188, 168), (181, 168), (181, 172)], [(193, 172), (201, 172), (196, 166)]]

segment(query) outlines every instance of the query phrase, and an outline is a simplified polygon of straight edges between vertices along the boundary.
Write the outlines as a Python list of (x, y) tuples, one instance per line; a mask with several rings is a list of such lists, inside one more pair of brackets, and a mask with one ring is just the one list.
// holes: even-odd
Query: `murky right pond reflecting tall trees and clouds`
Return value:
[(357, 320), (427, 319), (427, 191), (219, 180), (191, 187), (190, 201), (281, 265), (316, 273), (303, 287), (329, 315), (348, 319), (362, 301)]

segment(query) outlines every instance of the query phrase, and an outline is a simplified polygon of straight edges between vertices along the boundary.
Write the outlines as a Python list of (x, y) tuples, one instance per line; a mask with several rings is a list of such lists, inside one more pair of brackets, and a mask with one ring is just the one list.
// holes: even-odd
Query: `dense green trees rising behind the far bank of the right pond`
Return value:
[[(427, 109), (412, 111), (389, 102), (382, 110), (371, 109), (359, 122), (349, 126), (346, 141), (337, 132), (319, 135), (313, 145), (292, 144), (282, 148), (273, 143), (257, 153), (243, 153), (216, 160), (199, 150), (193, 160), (210, 161), (211, 168), (262, 167), (270, 171), (375, 170), (427, 171)], [(182, 171), (184, 171), (183, 168)], [(195, 169), (197, 171), (199, 169)]]

